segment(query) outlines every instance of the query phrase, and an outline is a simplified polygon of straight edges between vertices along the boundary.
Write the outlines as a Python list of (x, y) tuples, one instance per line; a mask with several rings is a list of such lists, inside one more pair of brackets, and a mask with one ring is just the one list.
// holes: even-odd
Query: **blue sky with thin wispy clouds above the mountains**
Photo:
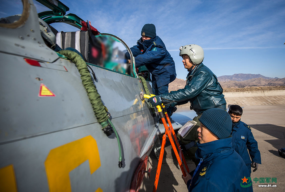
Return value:
[[(123, 39), (129, 47), (146, 23), (156, 26), (173, 57), (177, 78), (185, 79), (179, 47), (200, 45), (203, 63), (217, 76), (235, 73), (285, 77), (285, 1), (109, 1), (62, 0), (102, 33)], [(37, 9), (41, 7), (37, 6)]]

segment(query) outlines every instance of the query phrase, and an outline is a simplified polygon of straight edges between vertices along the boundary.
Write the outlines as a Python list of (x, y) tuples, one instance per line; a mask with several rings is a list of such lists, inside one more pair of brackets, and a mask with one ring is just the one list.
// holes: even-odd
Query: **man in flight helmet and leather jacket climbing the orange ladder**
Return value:
[[(170, 106), (191, 103), (190, 109), (197, 113), (194, 121), (197, 125), (182, 138), (177, 135), (182, 143), (182, 148), (187, 150), (188, 155), (195, 162), (195, 142), (197, 140), (197, 128), (200, 126), (199, 117), (203, 111), (211, 108), (220, 108), (226, 110), (226, 100), (224, 99), (223, 89), (218, 83), (216, 75), (207, 68), (203, 63), (204, 51), (199, 45), (191, 44), (180, 47), (180, 54), (183, 60), (184, 68), (189, 71), (186, 77), (186, 86), (184, 89), (171, 91), (168, 94), (157, 95), (148, 99), (153, 106), (158, 104), (170, 103)], [(154, 99), (155, 98), (155, 99)], [(158, 102), (158, 104), (157, 104)], [(183, 146), (184, 145), (184, 146)]]

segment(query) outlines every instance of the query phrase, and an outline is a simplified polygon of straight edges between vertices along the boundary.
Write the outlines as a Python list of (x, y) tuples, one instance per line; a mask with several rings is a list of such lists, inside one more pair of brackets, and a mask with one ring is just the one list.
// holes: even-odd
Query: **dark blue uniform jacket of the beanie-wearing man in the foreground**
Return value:
[[(232, 149), (231, 136), (198, 144), (196, 156), (202, 158), (203, 162), (193, 176), (192, 183), (191, 180), (187, 182), (189, 191), (252, 191), (248, 168)], [(247, 183), (242, 183), (244, 177), (249, 178)]]

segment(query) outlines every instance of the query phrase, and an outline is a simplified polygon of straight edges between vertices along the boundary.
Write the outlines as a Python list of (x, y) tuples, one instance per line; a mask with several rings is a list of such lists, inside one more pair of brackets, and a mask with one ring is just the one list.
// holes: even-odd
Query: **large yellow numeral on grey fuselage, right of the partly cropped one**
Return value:
[[(50, 192), (71, 191), (69, 172), (86, 160), (90, 174), (101, 166), (97, 142), (91, 135), (50, 150), (45, 161)], [(102, 189), (98, 188), (96, 192), (102, 192)]]

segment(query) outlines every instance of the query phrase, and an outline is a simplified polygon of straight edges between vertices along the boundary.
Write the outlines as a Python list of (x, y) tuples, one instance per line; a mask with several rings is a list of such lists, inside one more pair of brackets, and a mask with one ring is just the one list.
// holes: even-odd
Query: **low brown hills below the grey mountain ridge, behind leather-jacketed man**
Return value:
[[(246, 74), (245, 74), (246, 75)], [(252, 75), (252, 74), (251, 74)], [(246, 81), (219, 81), (222, 88), (248, 88), (248, 87), (271, 87), (271, 86), (285, 86), (285, 78), (255, 78), (248, 79)], [(183, 89), (186, 85), (186, 80), (175, 79), (173, 82), (169, 83), (169, 91), (176, 91), (178, 89)]]

